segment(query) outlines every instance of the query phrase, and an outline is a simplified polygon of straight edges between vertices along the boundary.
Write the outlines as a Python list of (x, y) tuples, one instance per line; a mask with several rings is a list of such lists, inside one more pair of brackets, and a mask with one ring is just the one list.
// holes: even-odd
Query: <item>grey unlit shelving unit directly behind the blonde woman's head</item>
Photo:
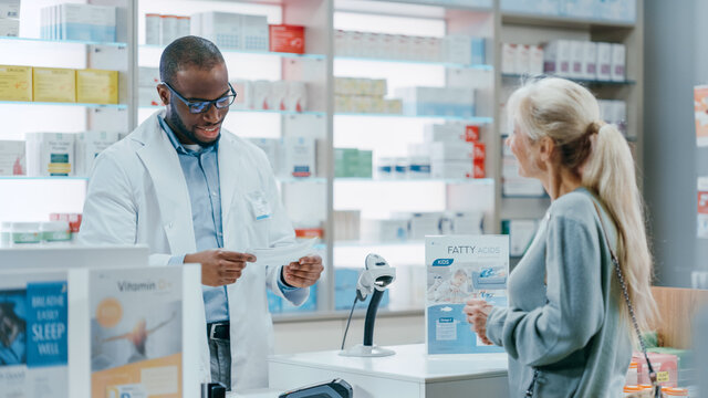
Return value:
[[(644, 0), (636, 1), (636, 21), (634, 22), (521, 13), (509, 11), (506, 3), (511, 2), (500, 0), (496, 28), (499, 32), (497, 49), (501, 49), (502, 43), (543, 44), (560, 39), (625, 44), (627, 50), (625, 81), (571, 80), (590, 88), (598, 98), (623, 100), (627, 103), (627, 140), (634, 147), (635, 160), (641, 176), (643, 161)], [(496, 64), (501, 65), (500, 54), (496, 59)], [(498, 69), (496, 91), (499, 93), (500, 106), (497, 108), (496, 117), (499, 121), (507, 117), (501, 114), (501, 104), (506, 102), (509, 93), (519, 85), (523, 77), (517, 74), (502, 74), (501, 67)], [(504, 123), (498, 123), (496, 126), (498, 137), (503, 139), (509, 134), (507, 130), (509, 127), (506, 127)], [(501, 163), (501, 158), (498, 158), (498, 161)], [(501, 175), (497, 175), (496, 178), (500, 180)], [(550, 199), (545, 195), (527, 198), (504, 197), (500, 184), (496, 200), (496, 208), (499, 209), (497, 224), (500, 224), (502, 219), (540, 219), (549, 205)]]

